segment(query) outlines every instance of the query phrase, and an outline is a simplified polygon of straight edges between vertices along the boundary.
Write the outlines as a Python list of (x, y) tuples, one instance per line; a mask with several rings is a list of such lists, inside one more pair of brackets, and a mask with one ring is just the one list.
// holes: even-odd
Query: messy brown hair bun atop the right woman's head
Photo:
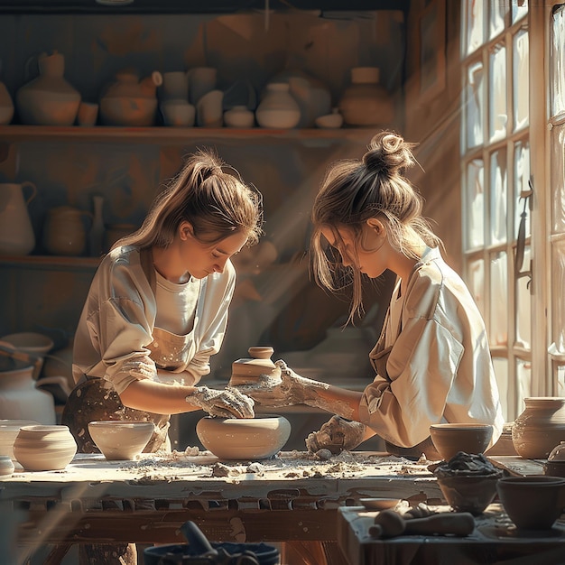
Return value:
[(413, 145), (394, 132), (381, 132), (371, 140), (369, 151), (363, 155), (363, 163), (367, 171), (393, 175), (414, 164)]

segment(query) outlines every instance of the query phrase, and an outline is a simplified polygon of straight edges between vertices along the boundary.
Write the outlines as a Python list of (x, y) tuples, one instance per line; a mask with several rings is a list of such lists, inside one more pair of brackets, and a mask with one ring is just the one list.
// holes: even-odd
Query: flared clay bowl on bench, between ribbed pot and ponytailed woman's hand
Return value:
[(155, 426), (152, 421), (106, 420), (88, 423), (90, 437), (110, 460), (134, 459), (143, 452)]

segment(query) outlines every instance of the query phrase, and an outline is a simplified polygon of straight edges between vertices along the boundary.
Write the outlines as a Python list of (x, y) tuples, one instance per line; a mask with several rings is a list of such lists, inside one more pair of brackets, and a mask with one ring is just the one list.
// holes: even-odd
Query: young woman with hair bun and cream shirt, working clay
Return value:
[(356, 392), (297, 375), (238, 387), (268, 406), (303, 403), (335, 414), (306, 440), (310, 451), (354, 449), (377, 434), (389, 452), (438, 458), (430, 425), (488, 423), (491, 445), (504, 418), (484, 320), (465, 283), (443, 260), (422, 217), (421, 195), (403, 176), (413, 144), (375, 135), (360, 160), (330, 167), (314, 201), (310, 261), (331, 292), (349, 285), (349, 321), (363, 311), (361, 279), (384, 271), (397, 282), (380, 338), (369, 353), (375, 379)]

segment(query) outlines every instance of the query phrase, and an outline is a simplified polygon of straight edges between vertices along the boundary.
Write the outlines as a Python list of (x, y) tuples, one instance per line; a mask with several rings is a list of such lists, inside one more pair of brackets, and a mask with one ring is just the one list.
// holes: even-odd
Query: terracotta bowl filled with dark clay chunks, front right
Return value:
[(438, 485), (453, 510), (477, 516), (495, 499), (496, 484), (501, 475), (438, 477)]

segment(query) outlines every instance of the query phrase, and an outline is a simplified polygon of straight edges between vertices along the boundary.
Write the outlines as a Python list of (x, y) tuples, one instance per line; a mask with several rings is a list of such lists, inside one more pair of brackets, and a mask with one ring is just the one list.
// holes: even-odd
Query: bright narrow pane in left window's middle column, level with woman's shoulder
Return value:
[(493, 255), (490, 262), (490, 329), (491, 346), (508, 344), (508, 269), (506, 253)]

